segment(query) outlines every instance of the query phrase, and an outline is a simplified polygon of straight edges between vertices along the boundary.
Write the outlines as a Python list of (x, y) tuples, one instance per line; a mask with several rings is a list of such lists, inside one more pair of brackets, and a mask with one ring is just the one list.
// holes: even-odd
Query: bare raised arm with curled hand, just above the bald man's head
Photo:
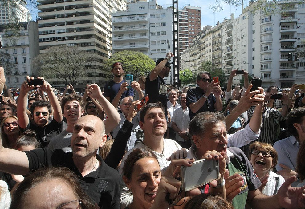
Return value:
[(96, 99), (104, 108), (107, 115), (105, 123), (105, 133), (111, 132), (120, 122), (121, 117), (116, 108), (104, 97), (100, 87), (97, 84), (87, 85), (88, 95)]

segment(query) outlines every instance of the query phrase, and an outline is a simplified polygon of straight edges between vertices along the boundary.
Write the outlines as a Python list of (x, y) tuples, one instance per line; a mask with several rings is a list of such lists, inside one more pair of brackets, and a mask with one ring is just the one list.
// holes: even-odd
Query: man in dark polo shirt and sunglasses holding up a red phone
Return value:
[(196, 80), (197, 87), (195, 89), (189, 89), (186, 93), (186, 106), (190, 110), (190, 120), (199, 112), (222, 110), (219, 82), (213, 83), (211, 73), (206, 71), (199, 73)]

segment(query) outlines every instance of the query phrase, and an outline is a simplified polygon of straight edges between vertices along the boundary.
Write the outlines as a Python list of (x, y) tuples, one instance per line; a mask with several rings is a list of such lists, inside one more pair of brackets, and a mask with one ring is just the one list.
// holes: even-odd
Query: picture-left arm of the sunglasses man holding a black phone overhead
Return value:
[(29, 124), (30, 120), (26, 114), (26, 106), (27, 106), (27, 93), (34, 89), (35, 86), (29, 86), (27, 81), (33, 80), (34, 77), (26, 77), (26, 81), (23, 81), (21, 84), (20, 94), (17, 101), (17, 117), (18, 117), (18, 125), (20, 128), (25, 129)]

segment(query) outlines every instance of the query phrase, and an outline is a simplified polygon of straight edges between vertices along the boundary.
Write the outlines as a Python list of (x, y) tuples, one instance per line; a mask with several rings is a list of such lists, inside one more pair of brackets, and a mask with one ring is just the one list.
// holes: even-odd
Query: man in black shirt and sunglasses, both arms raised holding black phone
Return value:
[[(43, 77), (38, 77), (43, 79)], [(50, 140), (63, 131), (63, 114), (57, 97), (55, 96), (51, 85), (47, 81), (43, 81), (42, 86), (29, 86), (28, 81), (33, 80), (33, 77), (27, 76), (26, 81), (21, 85), (20, 94), (17, 102), (17, 117), (20, 130), (23, 132), (26, 129), (35, 130), (37, 139), (43, 147), (47, 147)], [(31, 105), (30, 111), (33, 116), (34, 123), (29, 120), (26, 114), (27, 94), (30, 90), (38, 88), (48, 94), (49, 100), (39, 100)], [(51, 104), (50, 104), (51, 103)], [(53, 112), (53, 120), (49, 122), (50, 114)]]

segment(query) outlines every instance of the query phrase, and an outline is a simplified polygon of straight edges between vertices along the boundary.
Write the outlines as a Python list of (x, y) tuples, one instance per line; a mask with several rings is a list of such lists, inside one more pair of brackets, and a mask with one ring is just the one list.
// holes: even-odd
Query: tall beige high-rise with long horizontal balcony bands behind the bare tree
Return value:
[[(110, 13), (126, 10), (126, 1), (38, 0), (38, 9), (40, 53), (49, 46), (77, 45), (95, 53), (97, 61), (93, 65), (101, 66), (101, 61), (112, 54)], [(88, 77), (79, 78), (76, 89), (83, 88), (85, 83), (103, 86), (109, 80), (107, 72), (100, 69), (90, 69), (88, 73)], [(52, 85), (63, 87), (65, 82), (53, 79)]]

